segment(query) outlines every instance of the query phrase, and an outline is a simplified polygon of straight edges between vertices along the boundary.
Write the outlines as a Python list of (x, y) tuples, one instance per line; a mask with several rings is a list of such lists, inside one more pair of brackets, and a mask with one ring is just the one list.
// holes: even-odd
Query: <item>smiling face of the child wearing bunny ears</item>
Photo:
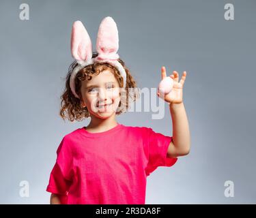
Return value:
[(81, 94), (81, 106), (87, 106), (90, 114), (102, 119), (113, 115), (120, 102), (119, 84), (108, 69), (82, 81)]

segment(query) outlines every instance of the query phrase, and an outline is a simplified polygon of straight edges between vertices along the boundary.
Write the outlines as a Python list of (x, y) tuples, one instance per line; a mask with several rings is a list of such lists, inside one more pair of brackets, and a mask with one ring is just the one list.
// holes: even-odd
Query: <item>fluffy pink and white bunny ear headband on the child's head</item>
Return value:
[(98, 29), (98, 37), (96, 42), (96, 50), (98, 56), (95, 58), (92, 57), (92, 45), (89, 34), (87, 33), (83, 23), (80, 20), (77, 20), (73, 23), (72, 33), (71, 33), (71, 54), (78, 65), (73, 69), (70, 76), (70, 89), (75, 97), (79, 98), (79, 95), (76, 94), (75, 82), (76, 74), (83, 67), (90, 65), (96, 61), (98, 62), (107, 62), (117, 67), (121, 76), (124, 78), (124, 87), (126, 87), (126, 71), (117, 59), (119, 55), (117, 54), (119, 46), (119, 38), (117, 25), (113, 18), (107, 16), (100, 23)]

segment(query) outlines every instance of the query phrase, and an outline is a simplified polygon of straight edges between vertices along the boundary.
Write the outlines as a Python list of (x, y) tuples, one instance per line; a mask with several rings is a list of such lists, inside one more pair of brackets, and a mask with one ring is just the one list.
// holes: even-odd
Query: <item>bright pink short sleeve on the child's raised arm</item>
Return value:
[(156, 170), (158, 166), (173, 166), (177, 158), (167, 157), (167, 151), (172, 137), (156, 133), (152, 128), (147, 129), (147, 167), (145, 168), (146, 175)]

